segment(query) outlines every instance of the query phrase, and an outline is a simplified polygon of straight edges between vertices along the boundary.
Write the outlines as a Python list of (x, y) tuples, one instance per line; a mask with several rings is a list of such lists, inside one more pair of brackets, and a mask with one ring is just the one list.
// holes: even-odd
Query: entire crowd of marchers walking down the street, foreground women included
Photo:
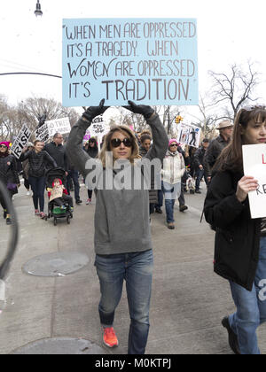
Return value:
[[(63, 169), (66, 176), (66, 183), (63, 178), (64, 182), (59, 178), (52, 182), (51, 200), (59, 203), (63, 198), (73, 209), (70, 196), (73, 190), (76, 205), (82, 203), (79, 176), (90, 179), (92, 169), (86, 167), (88, 160), (99, 159), (103, 177), (112, 169), (113, 179), (120, 170), (109, 164), (107, 153), (112, 153), (113, 162), (127, 160), (125, 167), (132, 173), (140, 167), (143, 177), (146, 175), (144, 160), (160, 160), (160, 173), (152, 174), (150, 190), (103, 189), (97, 187), (98, 180), (92, 188), (86, 182), (86, 204), (90, 205), (93, 195), (96, 203), (94, 249), (101, 292), (98, 313), (103, 342), (108, 347), (119, 345), (114, 314), (125, 280), (130, 314), (128, 353), (144, 354), (153, 279), (151, 214), (163, 213), (164, 199), (166, 226), (175, 229), (174, 205), (178, 200), (179, 211), (187, 210), (185, 192), (200, 194), (200, 182), (204, 178), (207, 185), (204, 214), (215, 230), (214, 269), (229, 281), (236, 306), (234, 314), (223, 317), (222, 325), (228, 331), (233, 353), (260, 353), (256, 329), (266, 320), (266, 301), (262, 295), (266, 278), (266, 218), (251, 219), (247, 196), (258, 188), (258, 181), (244, 175), (242, 145), (266, 143), (265, 106), (241, 108), (234, 123), (220, 122), (219, 136), (212, 141), (203, 138), (198, 149), (183, 146), (176, 138), (169, 139), (152, 107), (129, 101), (124, 108), (142, 114), (150, 130), (135, 133), (128, 126), (114, 126), (102, 143), (98, 144), (92, 137), (84, 144), (83, 138), (92, 120), (108, 109), (102, 100), (98, 106), (90, 106), (83, 112), (71, 129), (66, 146), (63, 136), (57, 133), (51, 143), (43, 145), (38, 140), (27, 143), (20, 159), (15, 159), (10, 143), (1, 142), (0, 179), (9, 198), (18, 193), (20, 187), (20, 162), (27, 194), (32, 192), (34, 213), (44, 218), (43, 195), (49, 169)], [(160, 188), (155, 187), (158, 175)], [(4, 219), (11, 224), (12, 216), (3, 196), (0, 202)], [(59, 208), (62, 205), (61, 200)]]

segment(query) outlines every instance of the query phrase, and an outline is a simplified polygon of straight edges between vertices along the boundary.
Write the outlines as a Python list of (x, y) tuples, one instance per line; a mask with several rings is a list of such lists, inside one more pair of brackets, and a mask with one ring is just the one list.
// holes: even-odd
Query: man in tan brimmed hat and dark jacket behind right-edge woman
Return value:
[(209, 143), (207, 147), (207, 151), (204, 156), (204, 168), (207, 174), (208, 182), (210, 182), (212, 168), (215, 165), (216, 159), (218, 159), (218, 156), (220, 155), (224, 147), (226, 147), (228, 143), (230, 143), (232, 128), (233, 126), (230, 120), (221, 121), (217, 128), (219, 129), (219, 136), (211, 141), (211, 143)]

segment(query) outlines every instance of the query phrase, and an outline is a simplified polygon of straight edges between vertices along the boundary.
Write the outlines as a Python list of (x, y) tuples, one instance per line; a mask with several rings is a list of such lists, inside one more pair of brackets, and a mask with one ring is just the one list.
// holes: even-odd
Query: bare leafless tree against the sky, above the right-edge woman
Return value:
[(214, 81), (214, 105), (224, 103), (229, 105), (223, 118), (234, 120), (237, 112), (247, 101), (256, 101), (253, 97), (254, 88), (259, 84), (259, 75), (254, 63), (247, 61), (246, 69), (237, 64), (230, 66), (229, 74), (209, 71)]

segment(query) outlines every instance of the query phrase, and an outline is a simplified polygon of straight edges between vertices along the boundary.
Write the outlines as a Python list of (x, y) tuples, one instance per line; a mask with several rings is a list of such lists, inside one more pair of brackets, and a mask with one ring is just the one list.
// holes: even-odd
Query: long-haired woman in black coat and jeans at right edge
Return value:
[(231, 349), (241, 354), (260, 353), (256, 329), (266, 321), (266, 219), (251, 219), (247, 195), (258, 182), (244, 175), (242, 159), (242, 145), (257, 143), (266, 143), (266, 109), (246, 106), (236, 116), (231, 143), (217, 159), (204, 205), (206, 221), (216, 231), (215, 273), (229, 280), (237, 307), (222, 324)]

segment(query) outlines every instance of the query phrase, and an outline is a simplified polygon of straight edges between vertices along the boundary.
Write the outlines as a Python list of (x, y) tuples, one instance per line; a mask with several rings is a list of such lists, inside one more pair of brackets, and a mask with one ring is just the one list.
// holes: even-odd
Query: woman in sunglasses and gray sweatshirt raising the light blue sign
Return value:
[[(106, 111), (103, 99), (98, 106), (90, 106), (82, 118), (74, 125), (66, 148), (69, 157), (78, 167), (86, 183), (92, 182), (92, 167), (88, 153), (82, 151), (82, 138), (93, 118)], [(126, 106), (131, 112), (143, 114), (153, 131), (153, 147), (145, 157), (158, 159), (160, 163), (168, 148), (168, 136), (159, 116), (150, 106), (135, 105), (129, 101)], [(110, 158), (111, 157), (111, 158)], [(109, 347), (117, 346), (118, 340), (113, 330), (114, 312), (121, 299), (123, 280), (129, 301), (130, 328), (128, 353), (143, 354), (149, 333), (149, 307), (153, 275), (153, 244), (149, 225), (148, 188), (116, 188), (125, 173), (116, 166), (123, 164), (124, 170), (131, 174), (142, 169), (143, 159), (138, 154), (137, 139), (127, 126), (112, 128), (105, 137), (99, 153), (100, 174), (98, 180), (112, 177), (113, 187), (105, 187), (96, 181), (95, 210), (95, 252), (101, 299), (98, 306), (100, 322), (104, 329), (104, 343)], [(111, 160), (110, 160), (111, 159)], [(95, 161), (95, 160), (94, 160)], [(87, 164), (86, 164), (87, 163)], [(121, 178), (120, 174), (123, 174)], [(145, 173), (145, 170), (143, 171)], [(159, 169), (160, 173), (160, 169)], [(103, 178), (101, 178), (103, 175)], [(143, 175), (143, 173), (140, 173)], [(94, 178), (95, 178), (94, 177)], [(126, 176), (124, 177), (126, 178)], [(141, 182), (140, 182), (141, 183)]]

